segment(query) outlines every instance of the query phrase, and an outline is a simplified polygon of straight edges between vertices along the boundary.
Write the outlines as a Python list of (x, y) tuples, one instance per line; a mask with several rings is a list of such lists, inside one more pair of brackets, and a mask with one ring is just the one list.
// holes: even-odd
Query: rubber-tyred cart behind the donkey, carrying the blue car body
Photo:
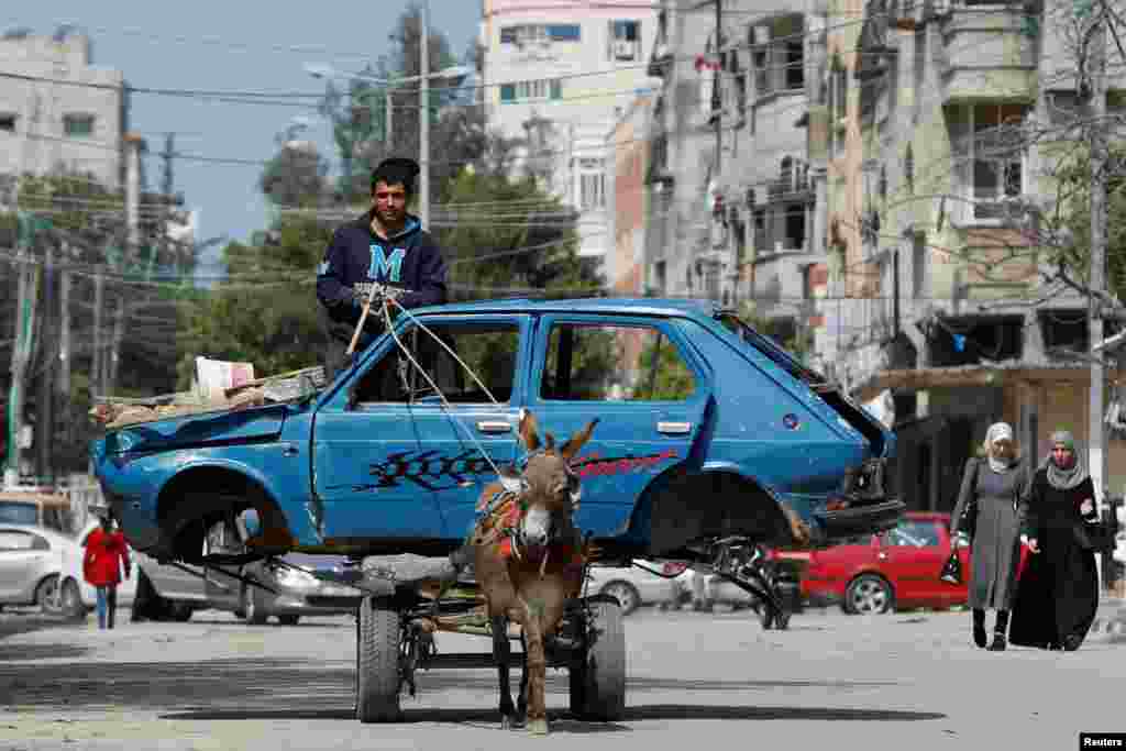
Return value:
[[(412, 556), (406, 556), (412, 557)], [(448, 565), (441, 560), (431, 566)], [(393, 566), (394, 579), (373, 575), (372, 558), (363, 563), (365, 590), (356, 617), (356, 717), (361, 723), (393, 723), (402, 717), (401, 696), (414, 696), (417, 673), (434, 669), (495, 668), (492, 629), (484, 599), (471, 578), (458, 578), (441, 592), (432, 575), (411, 578), (406, 566)], [(588, 564), (589, 565), (589, 564)], [(489, 638), (482, 652), (443, 653), (438, 632)], [(509, 638), (520, 640), (519, 627)], [(573, 716), (595, 722), (620, 719), (625, 712), (626, 649), (622, 608), (609, 596), (580, 597), (566, 605), (558, 632), (545, 640), (548, 668), (570, 678)], [(525, 654), (513, 651), (510, 668), (524, 668)]]

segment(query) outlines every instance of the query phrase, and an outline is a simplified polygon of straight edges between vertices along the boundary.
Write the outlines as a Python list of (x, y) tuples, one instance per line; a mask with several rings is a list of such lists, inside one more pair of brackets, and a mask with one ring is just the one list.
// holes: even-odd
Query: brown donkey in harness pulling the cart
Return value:
[[(525, 411), (518, 432), (529, 452), (527, 466), (518, 477), (502, 476), (485, 486), (477, 503), (481, 517), (471, 538), (474, 574), (492, 627), (503, 728), (526, 719), (529, 732), (547, 733), (544, 641), (555, 635), (568, 600), (580, 594), (584, 571), (583, 540), (573, 524), (579, 477), (570, 462), (596, 424), (597, 419), (560, 448), (547, 433), (540, 448), (536, 419)], [(525, 644), (519, 712), (509, 682), (510, 622), (522, 626)]]

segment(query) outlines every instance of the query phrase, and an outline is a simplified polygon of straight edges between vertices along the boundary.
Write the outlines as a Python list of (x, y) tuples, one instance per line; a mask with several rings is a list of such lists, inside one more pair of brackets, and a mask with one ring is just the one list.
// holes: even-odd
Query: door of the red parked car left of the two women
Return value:
[(902, 519), (879, 535), (879, 567), (895, 588), (897, 602), (942, 599), (938, 579), (948, 549), (933, 519)]

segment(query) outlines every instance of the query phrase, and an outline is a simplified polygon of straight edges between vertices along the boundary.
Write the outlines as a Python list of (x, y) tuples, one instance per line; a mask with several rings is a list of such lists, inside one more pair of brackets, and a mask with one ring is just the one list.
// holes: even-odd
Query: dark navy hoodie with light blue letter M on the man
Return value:
[[(387, 240), (372, 231), (372, 212), (333, 233), (316, 272), (316, 298), (328, 312), (337, 339), (351, 340), (364, 310), (355, 290), (372, 283), (409, 289), (399, 297), (403, 307), (446, 302), (446, 261), (418, 217), (408, 214), (403, 230)], [(368, 314), (372, 327), (365, 324), (365, 333), (382, 330), (379, 316), (373, 313)], [(360, 346), (368, 341), (365, 336)]]

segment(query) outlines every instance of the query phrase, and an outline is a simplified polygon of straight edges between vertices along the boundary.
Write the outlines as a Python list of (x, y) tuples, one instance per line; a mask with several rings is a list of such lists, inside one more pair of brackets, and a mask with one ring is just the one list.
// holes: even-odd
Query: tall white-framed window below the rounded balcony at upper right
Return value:
[(1025, 191), (1025, 151), (1018, 132), (1024, 105), (969, 105), (969, 198), (974, 218), (999, 218), (1000, 202)]

